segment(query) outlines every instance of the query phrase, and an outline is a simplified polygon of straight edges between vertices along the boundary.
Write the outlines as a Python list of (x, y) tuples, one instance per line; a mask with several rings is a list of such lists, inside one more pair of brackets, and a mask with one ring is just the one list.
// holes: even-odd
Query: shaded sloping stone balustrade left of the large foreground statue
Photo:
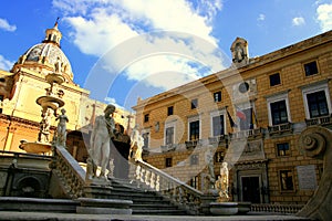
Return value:
[(60, 146), (53, 146), (54, 160), (51, 164), (53, 172), (56, 173), (66, 193), (77, 199), (83, 196), (83, 187), (85, 183), (85, 171), (71, 154)]

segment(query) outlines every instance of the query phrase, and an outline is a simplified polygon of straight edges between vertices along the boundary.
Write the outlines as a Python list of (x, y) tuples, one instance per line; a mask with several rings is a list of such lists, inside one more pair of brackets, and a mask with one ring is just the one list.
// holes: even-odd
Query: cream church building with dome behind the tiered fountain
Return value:
[[(55, 22), (45, 31), (44, 40), (28, 49), (10, 72), (0, 70), (1, 150), (24, 152), (19, 148), (20, 141), (38, 139), (42, 112), (37, 98), (53, 91), (54, 96), (63, 101), (61, 108), (66, 110), (69, 118), (66, 147), (79, 161), (86, 160), (84, 135), (89, 135), (95, 116), (103, 115), (107, 104), (90, 98), (90, 92), (73, 82), (71, 63), (61, 50), (61, 38)], [(50, 87), (45, 80), (50, 73), (61, 74), (64, 83)], [(125, 130), (134, 125), (131, 113), (125, 109), (116, 108), (113, 117)], [(56, 125), (55, 117), (51, 118), (50, 140)]]

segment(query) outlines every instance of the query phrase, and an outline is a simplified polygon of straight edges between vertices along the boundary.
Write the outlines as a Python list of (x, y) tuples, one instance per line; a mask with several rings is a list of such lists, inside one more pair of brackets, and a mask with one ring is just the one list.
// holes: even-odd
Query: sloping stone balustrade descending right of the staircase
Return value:
[(188, 213), (200, 214), (204, 193), (144, 161), (135, 161), (133, 179), (169, 199)]

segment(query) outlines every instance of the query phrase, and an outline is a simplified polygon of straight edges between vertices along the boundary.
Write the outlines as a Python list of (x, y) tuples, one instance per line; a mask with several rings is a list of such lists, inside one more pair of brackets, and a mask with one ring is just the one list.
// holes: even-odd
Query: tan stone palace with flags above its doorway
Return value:
[(211, 148), (215, 179), (228, 162), (232, 200), (304, 204), (323, 161), (298, 139), (332, 126), (332, 31), (258, 57), (241, 38), (230, 50), (230, 67), (137, 101), (144, 160), (204, 191)]

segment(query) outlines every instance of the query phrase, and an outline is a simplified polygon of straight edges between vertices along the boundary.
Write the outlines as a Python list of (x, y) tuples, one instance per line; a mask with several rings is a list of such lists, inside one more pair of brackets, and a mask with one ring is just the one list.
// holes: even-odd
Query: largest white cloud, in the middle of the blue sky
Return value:
[[(214, 71), (224, 67), (220, 54), (215, 54), (217, 40), (211, 35), (211, 21), (222, 8), (221, 0), (198, 0), (195, 6), (186, 0), (53, 0), (53, 7), (65, 14), (63, 20), (72, 27), (71, 35), (79, 49), (96, 56), (123, 46), (132, 39), (139, 39), (144, 33), (163, 30), (141, 38), (136, 44), (129, 42), (126, 52), (121, 50), (112, 57), (103, 57), (105, 70), (125, 69), (128, 80), (172, 88), (210, 74), (201, 71), (201, 64), (193, 65), (193, 60), (201, 61)], [(189, 34), (175, 38), (167, 31)], [(156, 54), (149, 54), (149, 49)], [(173, 49), (177, 49), (179, 55), (158, 54)], [(186, 73), (188, 76), (177, 74), (180, 77), (174, 84), (174, 77), (156, 73), (172, 73), (172, 76)]]

